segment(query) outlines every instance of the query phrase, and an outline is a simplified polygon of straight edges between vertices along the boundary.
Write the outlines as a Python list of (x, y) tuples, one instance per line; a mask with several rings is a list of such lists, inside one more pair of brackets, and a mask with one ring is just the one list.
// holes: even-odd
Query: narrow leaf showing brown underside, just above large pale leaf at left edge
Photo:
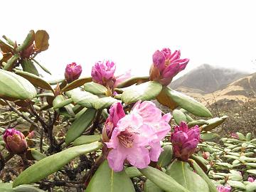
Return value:
[(36, 87), (41, 87), (45, 90), (51, 90), (54, 92), (53, 88), (50, 86), (48, 82), (43, 80), (42, 78), (38, 77), (37, 75), (34, 75), (32, 73), (28, 73), (26, 71), (22, 70), (15, 70), (15, 73), (20, 75), (21, 77), (25, 78), (29, 82), (31, 82)]

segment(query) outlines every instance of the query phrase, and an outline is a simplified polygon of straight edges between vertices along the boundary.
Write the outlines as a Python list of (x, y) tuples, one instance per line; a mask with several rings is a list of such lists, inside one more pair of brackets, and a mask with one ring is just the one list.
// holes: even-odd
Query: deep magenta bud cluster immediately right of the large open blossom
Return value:
[(183, 161), (187, 161), (193, 154), (200, 140), (200, 129), (196, 125), (188, 129), (186, 122), (181, 122), (171, 133), (174, 156)]

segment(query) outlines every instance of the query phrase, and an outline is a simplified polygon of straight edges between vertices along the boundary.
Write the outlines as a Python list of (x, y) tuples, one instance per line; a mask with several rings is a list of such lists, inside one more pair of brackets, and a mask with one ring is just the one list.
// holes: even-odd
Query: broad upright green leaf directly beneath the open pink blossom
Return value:
[(95, 172), (85, 192), (135, 192), (125, 171), (114, 172), (105, 160)]

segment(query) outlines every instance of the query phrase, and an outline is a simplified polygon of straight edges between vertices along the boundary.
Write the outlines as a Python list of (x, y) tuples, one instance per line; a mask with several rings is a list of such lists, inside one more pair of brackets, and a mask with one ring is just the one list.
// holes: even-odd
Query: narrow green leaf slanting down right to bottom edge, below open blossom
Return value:
[[(177, 183), (174, 178), (165, 174), (158, 169), (154, 169), (151, 166), (148, 166), (146, 169), (139, 169), (139, 171), (149, 178), (150, 181), (156, 184), (159, 188), (166, 192), (189, 192), (186, 188)], [(181, 172), (178, 170), (178, 172)]]

